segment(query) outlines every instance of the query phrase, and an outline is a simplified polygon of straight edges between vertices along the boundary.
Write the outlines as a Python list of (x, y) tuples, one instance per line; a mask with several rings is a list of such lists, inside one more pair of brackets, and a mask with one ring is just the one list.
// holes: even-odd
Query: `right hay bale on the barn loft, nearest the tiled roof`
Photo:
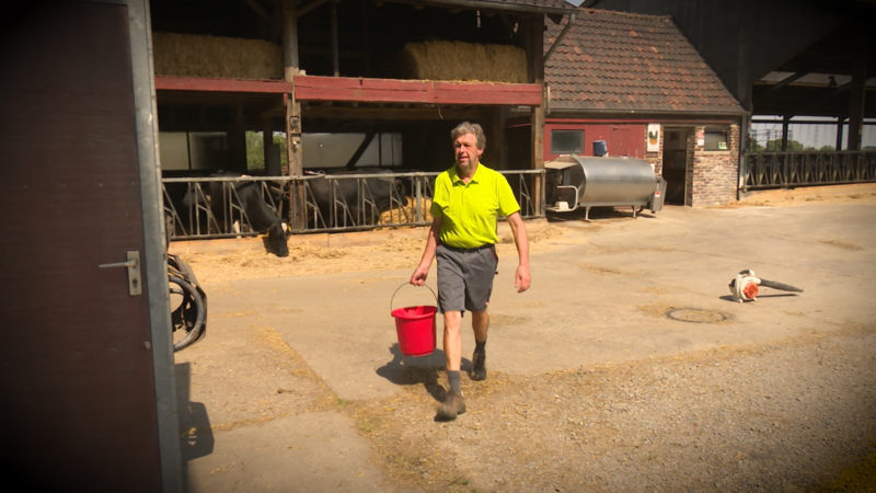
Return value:
[(527, 53), (508, 45), (429, 41), (408, 43), (397, 56), (403, 79), (526, 83)]

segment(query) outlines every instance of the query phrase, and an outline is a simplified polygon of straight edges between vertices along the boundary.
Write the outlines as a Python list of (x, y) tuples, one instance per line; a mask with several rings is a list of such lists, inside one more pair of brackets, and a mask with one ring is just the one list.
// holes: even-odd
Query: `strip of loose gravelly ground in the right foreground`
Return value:
[[(869, 372), (854, 365), (872, 359), (874, 343), (872, 333), (812, 336), (530, 377), (491, 372), (483, 382), (463, 377), (469, 411), (453, 423), (431, 420), (443, 392), (436, 368), (353, 413), (389, 475), (424, 491), (808, 491), (843, 474), (872, 485), (865, 465), (876, 436), (821, 447), (800, 423), (846, 434), (864, 415), (873, 420), (866, 400), (812, 390), (852, 378), (873, 391)], [(851, 360), (816, 363), (829, 349)], [(851, 459), (862, 451), (864, 462)], [(831, 454), (854, 466), (826, 470)]]

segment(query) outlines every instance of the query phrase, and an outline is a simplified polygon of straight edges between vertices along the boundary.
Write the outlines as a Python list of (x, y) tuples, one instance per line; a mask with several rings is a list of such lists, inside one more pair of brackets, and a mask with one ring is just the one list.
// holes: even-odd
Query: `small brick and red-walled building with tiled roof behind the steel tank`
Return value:
[(736, 199), (746, 112), (671, 18), (580, 9), (545, 51), (544, 160), (598, 142), (649, 161), (668, 204)]

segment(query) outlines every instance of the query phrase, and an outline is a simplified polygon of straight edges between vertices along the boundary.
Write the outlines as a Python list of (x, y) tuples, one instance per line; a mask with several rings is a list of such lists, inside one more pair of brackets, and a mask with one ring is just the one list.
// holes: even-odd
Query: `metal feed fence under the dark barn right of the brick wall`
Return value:
[(742, 191), (876, 181), (876, 151), (747, 152)]

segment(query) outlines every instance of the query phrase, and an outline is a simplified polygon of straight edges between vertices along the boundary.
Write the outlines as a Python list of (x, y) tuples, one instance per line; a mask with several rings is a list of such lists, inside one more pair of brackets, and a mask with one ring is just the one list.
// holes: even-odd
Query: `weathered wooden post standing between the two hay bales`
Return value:
[[(301, 159), (301, 103), (295, 98), (295, 77), (298, 74), (298, 9), (296, 0), (283, 2), (283, 62), (284, 76), (292, 87), (286, 103), (286, 156), (290, 176), (301, 176), (304, 172)], [(297, 183), (289, 197), (290, 222), (293, 230), (307, 227), (304, 216), (304, 186)]]

